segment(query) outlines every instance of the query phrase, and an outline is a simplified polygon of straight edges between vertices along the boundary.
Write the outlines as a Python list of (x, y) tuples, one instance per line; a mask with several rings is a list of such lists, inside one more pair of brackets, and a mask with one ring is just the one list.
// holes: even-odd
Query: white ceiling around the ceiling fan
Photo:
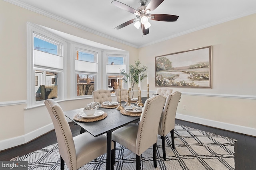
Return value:
[[(150, 20), (149, 34), (142, 36), (141, 29), (133, 24), (114, 29), (136, 17), (111, 4), (112, 0), (6, 1), (133, 47), (144, 47), (256, 13), (256, 0), (164, 0), (151, 14), (177, 15), (178, 20)], [(134, 9), (140, 6), (138, 0), (119, 1)]]

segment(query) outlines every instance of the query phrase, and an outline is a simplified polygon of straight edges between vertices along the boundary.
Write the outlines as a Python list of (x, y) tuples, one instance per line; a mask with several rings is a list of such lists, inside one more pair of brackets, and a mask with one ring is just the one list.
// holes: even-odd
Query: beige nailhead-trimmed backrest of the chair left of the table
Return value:
[(76, 149), (72, 132), (62, 108), (54, 100), (47, 99), (44, 104), (54, 125), (60, 156), (70, 170), (76, 169)]

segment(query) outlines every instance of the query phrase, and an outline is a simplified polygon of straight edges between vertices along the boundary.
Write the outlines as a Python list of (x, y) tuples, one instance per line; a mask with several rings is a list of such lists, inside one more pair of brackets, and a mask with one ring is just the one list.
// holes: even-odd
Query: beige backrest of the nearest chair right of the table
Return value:
[(165, 100), (161, 95), (153, 96), (146, 100), (138, 125), (136, 139), (137, 155), (142, 154), (156, 143), (159, 121)]

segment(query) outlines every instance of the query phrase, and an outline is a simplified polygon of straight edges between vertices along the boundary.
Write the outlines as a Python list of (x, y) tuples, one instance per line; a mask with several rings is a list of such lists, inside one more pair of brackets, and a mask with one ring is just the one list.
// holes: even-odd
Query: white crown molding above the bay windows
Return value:
[(14, 4), (14, 5), (17, 5), (17, 6), (20, 6), (20, 7), (22, 7), (22, 8), (27, 9), (27, 10), (30, 10), (30, 11), (32, 11), (32, 12), (36, 12), (36, 13), (38, 13), (38, 14), (40, 14), (40, 15), (43, 15), (43, 16), (52, 18), (52, 19), (54, 19), (54, 20), (57, 20), (57, 21), (66, 23), (66, 24), (71, 25), (71, 26), (73, 26), (73, 27), (82, 29), (82, 30), (84, 30), (84, 31), (93, 33), (93, 34), (95, 34), (95, 35), (99, 35), (99, 36), (101, 36), (101, 37), (104, 37), (104, 38), (107, 38), (107, 39), (116, 41), (116, 42), (118, 42), (118, 43), (122, 43), (122, 44), (125, 44), (125, 45), (129, 45), (129, 46), (131, 46), (131, 47), (138, 48), (137, 45), (128, 43), (128, 42), (126, 42), (126, 41), (122, 41), (122, 40), (120, 40), (120, 39), (116, 39), (116, 38), (110, 37), (110, 36), (108, 36), (108, 35), (105, 35), (105, 34), (102, 34), (102, 33), (98, 32), (98, 31), (94, 31), (93, 29), (90, 29), (90, 28), (88, 28), (88, 27), (84, 27), (84, 26), (82, 26), (82, 25), (80, 25), (80, 24), (74, 23), (74, 22), (72, 22), (72, 21), (66, 20), (66, 19), (64, 19), (64, 18), (58, 17), (58, 16), (53, 15), (53, 14), (50, 14), (49, 12), (46, 12), (46, 11), (44, 11), (44, 10), (40, 10), (40, 9), (38, 9), (38, 8), (35, 8), (35, 7), (31, 6), (31, 5), (25, 4), (25, 3), (20, 2), (20, 1), (18, 1), (18, 0), (4, 0), (4, 1), (9, 2), (9, 3), (11, 3), (11, 4)]

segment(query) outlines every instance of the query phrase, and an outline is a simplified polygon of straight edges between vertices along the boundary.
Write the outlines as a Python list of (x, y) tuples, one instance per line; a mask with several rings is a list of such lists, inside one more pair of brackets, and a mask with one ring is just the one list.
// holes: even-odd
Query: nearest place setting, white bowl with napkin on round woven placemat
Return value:
[(93, 122), (105, 119), (107, 113), (102, 110), (98, 110), (101, 106), (99, 102), (92, 102), (84, 107), (83, 111), (74, 116), (74, 120), (82, 122)]

